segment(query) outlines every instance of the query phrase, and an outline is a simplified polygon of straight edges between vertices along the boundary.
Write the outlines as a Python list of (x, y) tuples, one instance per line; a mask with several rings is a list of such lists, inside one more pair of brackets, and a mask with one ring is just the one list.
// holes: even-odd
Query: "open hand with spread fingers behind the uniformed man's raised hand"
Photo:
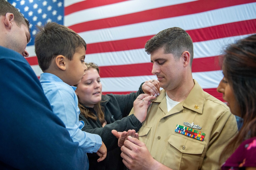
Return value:
[(127, 132), (126, 131), (118, 132), (116, 130), (112, 130), (111, 132), (113, 133), (113, 135), (116, 138), (118, 138), (118, 146), (119, 147), (122, 147), (124, 145), (124, 141), (127, 140), (128, 136), (132, 136), (135, 138), (139, 137), (138, 133), (136, 133), (135, 130), (128, 130)]

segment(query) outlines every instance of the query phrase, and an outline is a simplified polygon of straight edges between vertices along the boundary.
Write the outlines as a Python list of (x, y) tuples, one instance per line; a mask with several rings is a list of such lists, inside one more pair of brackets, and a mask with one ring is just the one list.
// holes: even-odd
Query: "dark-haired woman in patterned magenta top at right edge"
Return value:
[(217, 90), (231, 113), (243, 118), (239, 133), (222, 153), (225, 160), (225, 152), (233, 152), (222, 169), (256, 169), (256, 34), (226, 48), (222, 69)]

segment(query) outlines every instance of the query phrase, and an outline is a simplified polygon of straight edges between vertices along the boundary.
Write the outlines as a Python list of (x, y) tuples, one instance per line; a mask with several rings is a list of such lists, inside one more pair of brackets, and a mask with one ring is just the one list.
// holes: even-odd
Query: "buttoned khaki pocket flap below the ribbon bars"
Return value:
[(175, 133), (171, 134), (168, 142), (180, 152), (188, 154), (202, 154), (205, 148), (205, 143), (202, 141), (189, 139)]

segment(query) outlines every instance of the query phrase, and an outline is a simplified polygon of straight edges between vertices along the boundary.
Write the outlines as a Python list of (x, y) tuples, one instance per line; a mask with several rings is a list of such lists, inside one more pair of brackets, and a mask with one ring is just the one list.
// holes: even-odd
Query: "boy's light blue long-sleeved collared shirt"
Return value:
[(84, 122), (79, 122), (80, 110), (75, 93), (76, 87), (69, 86), (50, 73), (42, 73), (39, 80), (54, 114), (66, 125), (73, 141), (78, 142), (85, 152), (97, 152), (102, 145), (101, 137), (81, 130)]

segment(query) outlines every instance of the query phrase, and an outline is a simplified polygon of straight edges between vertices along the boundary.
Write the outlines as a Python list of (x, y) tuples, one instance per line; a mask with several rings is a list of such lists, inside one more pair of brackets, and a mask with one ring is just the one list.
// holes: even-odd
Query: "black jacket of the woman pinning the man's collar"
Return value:
[[(143, 84), (143, 83), (142, 83)], [(99, 156), (96, 153), (87, 153), (89, 158), (89, 169), (123, 169), (121, 150), (118, 147), (118, 139), (111, 133), (115, 129), (119, 132), (134, 129), (136, 132), (142, 126), (142, 123), (134, 116), (129, 115), (133, 102), (138, 95), (143, 93), (142, 84), (139, 90), (126, 95), (106, 94), (102, 95), (101, 106), (104, 107), (104, 115), (107, 124), (102, 127), (99, 119), (96, 121), (83, 115), (79, 115), (79, 120), (84, 121), (83, 131), (100, 135), (102, 141), (108, 150), (107, 157), (101, 162), (97, 162)], [(96, 112), (93, 108), (87, 107), (90, 111)]]

